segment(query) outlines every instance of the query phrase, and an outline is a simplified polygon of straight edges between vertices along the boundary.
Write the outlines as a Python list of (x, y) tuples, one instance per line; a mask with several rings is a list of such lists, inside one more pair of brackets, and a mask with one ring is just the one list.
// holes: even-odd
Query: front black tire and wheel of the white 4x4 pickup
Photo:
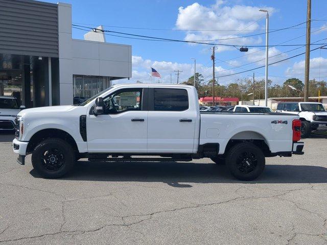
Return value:
[(32, 165), (44, 178), (62, 177), (74, 167), (75, 162), (72, 146), (58, 138), (41, 141), (32, 154)]

